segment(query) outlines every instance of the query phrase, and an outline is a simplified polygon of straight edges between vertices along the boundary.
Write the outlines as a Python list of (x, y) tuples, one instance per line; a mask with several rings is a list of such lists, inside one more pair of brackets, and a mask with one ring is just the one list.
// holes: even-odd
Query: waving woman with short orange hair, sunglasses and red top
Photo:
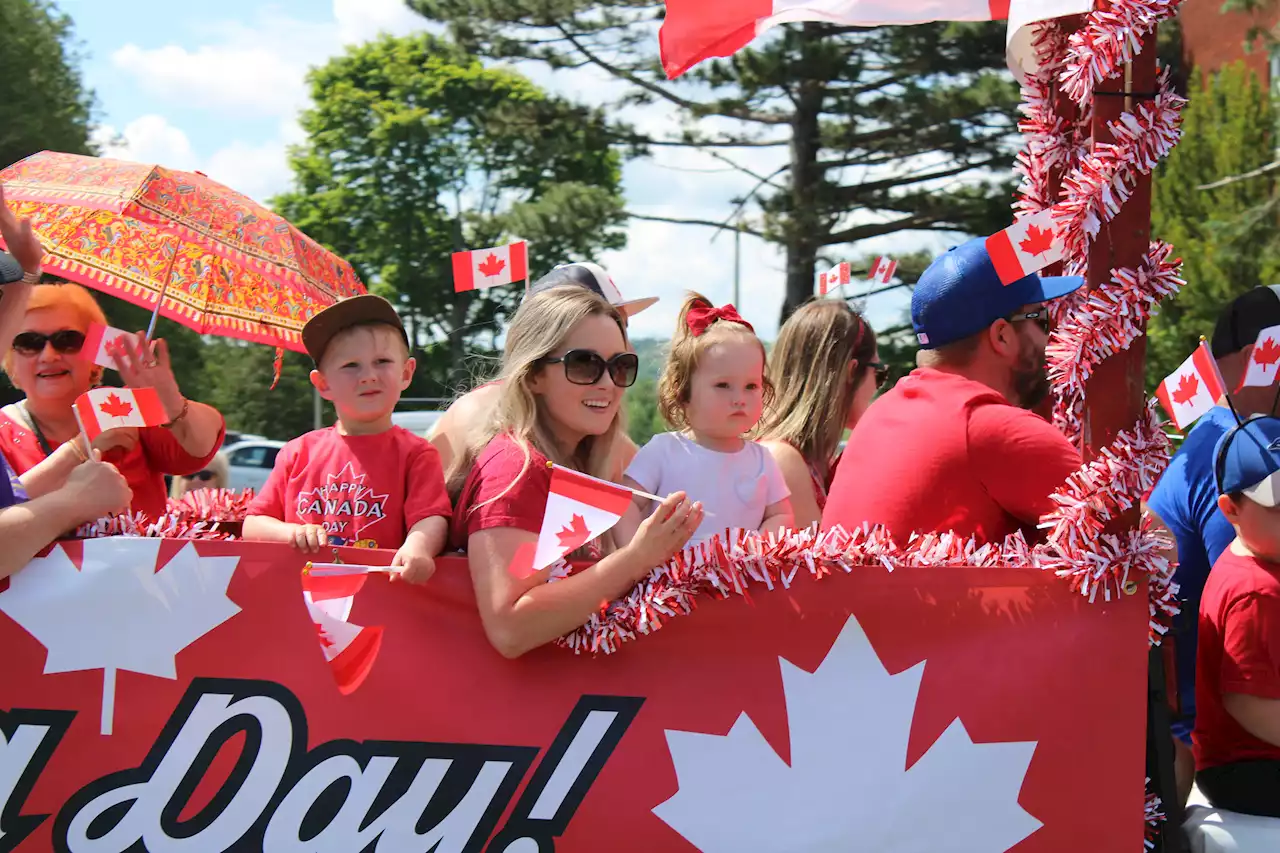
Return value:
[(155, 388), (169, 423), (147, 429), (110, 429), (86, 448), (72, 409), (97, 386), (102, 368), (86, 353), (92, 323), (106, 323), (97, 301), (79, 284), (36, 286), (4, 369), (27, 396), (0, 410), (0, 452), (22, 475), (32, 496), (60, 488), (92, 451), (120, 470), (133, 491), (131, 508), (159, 516), (168, 493), (164, 475), (205, 467), (223, 438), (218, 410), (183, 397), (164, 341), (148, 348), (140, 337), (122, 336), (115, 356), (119, 377), (133, 388)]

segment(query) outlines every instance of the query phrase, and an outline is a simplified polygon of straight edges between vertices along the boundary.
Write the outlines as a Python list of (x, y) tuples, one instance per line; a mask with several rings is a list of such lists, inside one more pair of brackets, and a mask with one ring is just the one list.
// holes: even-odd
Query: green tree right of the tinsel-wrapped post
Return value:
[(1212, 333), (1222, 305), (1280, 272), (1272, 174), (1201, 190), (1270, 163), (1275, 126), (1271, 97), (1243, 63), (1192, 74), (1183, 141), (1157, 170), (1152, 202), (1152, 233), (1176, 246), (1188, 287), (1151, 324), (1148, 387)]

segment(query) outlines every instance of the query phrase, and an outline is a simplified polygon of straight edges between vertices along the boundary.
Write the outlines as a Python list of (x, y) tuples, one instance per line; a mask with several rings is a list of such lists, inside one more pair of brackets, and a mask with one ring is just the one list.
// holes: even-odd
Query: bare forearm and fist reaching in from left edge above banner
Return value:
[(50, 542), (81, 524), (129, 506), (133, 492), (114, 466), (91, 460), (44, 497), (0, 510), (0, 578), (18, 571)]

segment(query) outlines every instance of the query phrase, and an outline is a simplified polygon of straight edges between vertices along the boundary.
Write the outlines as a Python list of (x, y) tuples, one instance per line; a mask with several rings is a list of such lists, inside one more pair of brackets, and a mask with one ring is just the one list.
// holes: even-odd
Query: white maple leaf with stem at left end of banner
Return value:
[(59, 546), (0, 593), (0, 611), (40, 640), (45, 674), (102, 670), (102, 734), (111, 734), (115, 672), (178, 678), (174, 657), (239, 612), (227, 597), (238, 557), (187, 544), (156, 571), (160, 539), (84, 540), (81, 569)]

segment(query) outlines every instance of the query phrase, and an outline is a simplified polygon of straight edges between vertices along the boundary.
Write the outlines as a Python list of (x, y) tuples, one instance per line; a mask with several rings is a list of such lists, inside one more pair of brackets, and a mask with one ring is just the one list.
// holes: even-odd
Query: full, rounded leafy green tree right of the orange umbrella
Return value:
[(604, 114), (485, 68), (430, 35), (349, 49), (311, 72), (294, 191), (274, 201), (398, 302), (417, 396), (467, 379), (520, 288), (456, 295), (449, 256), (529, 241), (530, 277), (623, 245), (621, 152)]

